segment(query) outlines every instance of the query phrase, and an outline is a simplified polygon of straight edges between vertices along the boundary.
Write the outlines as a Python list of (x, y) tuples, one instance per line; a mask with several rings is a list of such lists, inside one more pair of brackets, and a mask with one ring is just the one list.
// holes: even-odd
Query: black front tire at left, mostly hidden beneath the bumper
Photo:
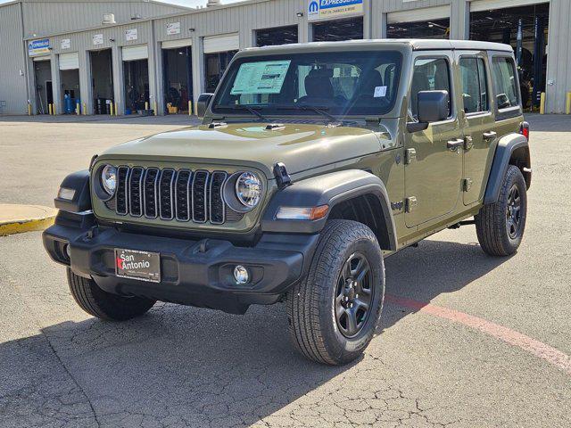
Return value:
[(155, 300), (142, 297), (123, 297), (105, 292), (93, 279), (75, 275), (68, 268), (70, 292), (79, 308), (89, 315), (107, 321), (126, 321), (139, 317), (153, 308)]

